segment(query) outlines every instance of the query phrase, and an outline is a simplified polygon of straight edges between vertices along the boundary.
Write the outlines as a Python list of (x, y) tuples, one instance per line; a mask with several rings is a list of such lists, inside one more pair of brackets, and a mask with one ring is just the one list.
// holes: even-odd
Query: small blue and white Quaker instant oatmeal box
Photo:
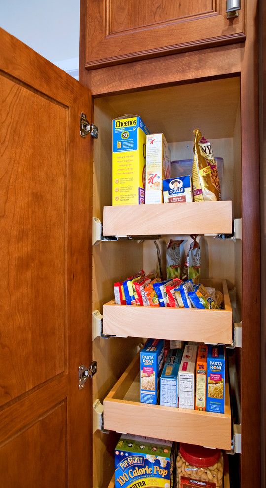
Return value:
[(164, 203), (193, 202), (190, 176), (163, 180)]

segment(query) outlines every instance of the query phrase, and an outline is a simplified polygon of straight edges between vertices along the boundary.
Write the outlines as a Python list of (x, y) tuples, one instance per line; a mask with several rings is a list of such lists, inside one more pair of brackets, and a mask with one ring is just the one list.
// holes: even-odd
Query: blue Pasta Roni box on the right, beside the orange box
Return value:
[(225, 410), (225, 349), (209, 346), (207, 356), (207, 412), (223, 414)]

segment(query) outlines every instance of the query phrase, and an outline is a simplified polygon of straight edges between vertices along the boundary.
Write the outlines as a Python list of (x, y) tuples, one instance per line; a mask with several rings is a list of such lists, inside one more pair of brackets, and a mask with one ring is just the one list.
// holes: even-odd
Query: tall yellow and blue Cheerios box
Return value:
[(113, 120), (113, 205), (145, 203), (146, 134), (139, 116)]

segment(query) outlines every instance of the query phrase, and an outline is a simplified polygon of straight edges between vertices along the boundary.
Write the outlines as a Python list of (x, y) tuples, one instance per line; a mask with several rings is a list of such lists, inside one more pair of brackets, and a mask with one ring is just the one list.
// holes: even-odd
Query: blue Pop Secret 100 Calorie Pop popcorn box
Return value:
[(175, 488), (175, 444), (123, 434), (115, 448), (115, 488)]

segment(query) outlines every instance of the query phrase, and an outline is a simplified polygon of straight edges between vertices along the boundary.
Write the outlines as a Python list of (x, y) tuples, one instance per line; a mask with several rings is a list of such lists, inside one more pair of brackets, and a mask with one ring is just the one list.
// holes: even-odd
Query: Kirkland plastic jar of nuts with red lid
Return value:
[(176, 459), (177, 488), (222, 487), (223, 471), (220, 449), (180, 444)]

